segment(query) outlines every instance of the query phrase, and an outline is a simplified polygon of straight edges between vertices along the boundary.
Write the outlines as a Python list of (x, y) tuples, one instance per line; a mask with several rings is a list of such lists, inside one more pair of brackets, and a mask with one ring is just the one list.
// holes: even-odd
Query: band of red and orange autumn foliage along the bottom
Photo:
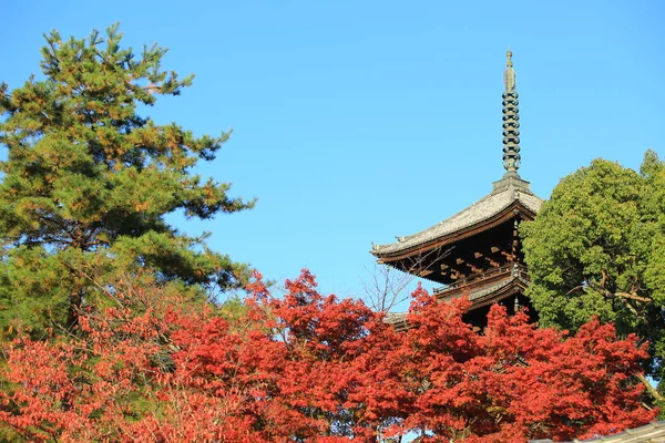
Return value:
[(596, 320), (566, 337), (494, 307), (475, 333), (468, 302), (418, 289), (396, 332), (308, 271), (286, 289), (257, 276), (228, 312), (119, 282), (78, 336), (13, 343), (0, 421), (37, 442), (518, 442), (655, 416), (633, 378), (645, 351)]

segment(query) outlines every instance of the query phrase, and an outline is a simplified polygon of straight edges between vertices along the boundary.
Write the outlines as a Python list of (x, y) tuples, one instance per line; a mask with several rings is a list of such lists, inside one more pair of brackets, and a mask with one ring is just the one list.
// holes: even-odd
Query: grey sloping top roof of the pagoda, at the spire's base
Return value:
[[(511, 206), (514, 202), (520, 202), (524, 207), (533, 213), (540, 210), (543, 200), (535, 196), (530, 189), (528, 182), (521, 179), (505, 181), (501, 186), (500, 181), (494, 185), (494, 190), (475, 202), (468, 208), (457, 213), (452, 217), (427, 228), (418, 234), (406, 237), (398, 237), (398, 241), (388, 245), (372, 245), (371, 253), (375, 256), (400, 253), (418, 245), (443, 238), (460, 229), (464, 229), (482, 223), (492, 216), (500, 214)], [(499, 186), (498, 186), (499, 185)]]

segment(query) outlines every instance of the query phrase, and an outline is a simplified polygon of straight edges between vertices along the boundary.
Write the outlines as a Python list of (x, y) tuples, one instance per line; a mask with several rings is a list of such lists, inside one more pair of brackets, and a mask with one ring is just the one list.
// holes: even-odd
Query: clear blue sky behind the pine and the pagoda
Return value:
[[(39, 72), (42, 33), (120, 21), (124, 43), (170, 48), (195, 73), (150, 110), (195, 133), (233, 128), (200, 169), (254, 210), (184, 223), (265, 276), (303, 267), (360, 296), (371, 241), (427, 228), (491, 190), (501, 166), (510, 45), (520, 174), (548, 198), (595, 157), (665, 155), (665, 2), (19, 1), (0, 4), (0, 81)], [(429, 285), (426, 285), (429, 286)]]

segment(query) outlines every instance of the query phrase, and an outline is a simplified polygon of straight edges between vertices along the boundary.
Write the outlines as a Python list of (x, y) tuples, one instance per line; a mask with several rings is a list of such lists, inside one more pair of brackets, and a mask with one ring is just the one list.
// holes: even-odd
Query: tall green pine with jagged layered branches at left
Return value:
[(122, 48), (117, 24), (106, 37), (45, 37), (43, 78), (0, 85), (0, 326), (3, 331), (76, 324), (100, 285), (151, 271), (157, 281), (212, 289), (242, 284), (244, 265), (178, 233), (164, 216), (206, 219), (254, 202), (192, 168), (212, 161), (228, 138), (158, 125), (140, 111), (178, 95), (161, 66), (166, 49), (141, 55)]

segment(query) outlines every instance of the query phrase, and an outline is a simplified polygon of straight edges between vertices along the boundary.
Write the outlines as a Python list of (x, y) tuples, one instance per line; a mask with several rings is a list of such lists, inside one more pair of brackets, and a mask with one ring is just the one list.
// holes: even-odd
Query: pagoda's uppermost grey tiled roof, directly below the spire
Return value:
[[(438, 223), (420, 233), (397, 237), (398, 241), (388, 245), (374, 245), (371, 254), (379, 259), (390, 258), (408, 254), (412, 250), (429, 249), (429, 245), (452, 243), (454, 238), (466, 233), (471, 234), (478, 228), (491, 227), (492, 224), (502, 215), (511, 213), (518, 206), (525, 208), (535, 215), (543, 200), (533, 194), (529, 187), (529, 182), (521, 179), (516, 174), (507, 176), (499, 182), (494, 182), (493, 190), (475, 202), (471, 206), (462, 209), (450, 218)], [(446, 241), (446, 240), (450, 241)]]

